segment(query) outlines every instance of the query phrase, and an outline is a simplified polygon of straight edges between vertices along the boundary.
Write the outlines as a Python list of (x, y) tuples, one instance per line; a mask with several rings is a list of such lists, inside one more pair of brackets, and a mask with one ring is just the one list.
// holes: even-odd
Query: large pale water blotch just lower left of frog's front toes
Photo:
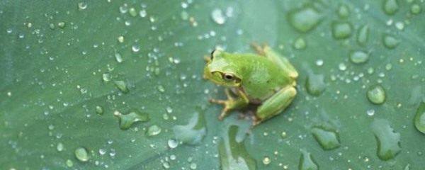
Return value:
[(176, 139), (184, 144), (200, 144), (207, 133), (204, 113), (193, 114), (187, 125), (175, 125), (173, 131)]

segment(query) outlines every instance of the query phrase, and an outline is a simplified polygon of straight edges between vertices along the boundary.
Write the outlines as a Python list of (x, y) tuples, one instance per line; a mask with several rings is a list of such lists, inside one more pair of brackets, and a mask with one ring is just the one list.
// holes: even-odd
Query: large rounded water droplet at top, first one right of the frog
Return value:
[(315, 28), (322, 21), (322, 18), (322, 13), (319, 13), (311, 5), (305, 5), (288, 13), (290, 26), (302, 33), (307, 33)]

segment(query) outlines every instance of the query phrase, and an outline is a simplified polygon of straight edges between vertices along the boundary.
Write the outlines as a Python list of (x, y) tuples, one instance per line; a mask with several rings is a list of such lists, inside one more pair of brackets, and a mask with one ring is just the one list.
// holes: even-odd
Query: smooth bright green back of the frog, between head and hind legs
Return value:
[(239, 64), (242, 89), (251, 101), (263, 101), (285, 86), (291, 86), (290, 79), (281, 67), (267, 57), (255, 54), (232, 55), (231, 61)]

